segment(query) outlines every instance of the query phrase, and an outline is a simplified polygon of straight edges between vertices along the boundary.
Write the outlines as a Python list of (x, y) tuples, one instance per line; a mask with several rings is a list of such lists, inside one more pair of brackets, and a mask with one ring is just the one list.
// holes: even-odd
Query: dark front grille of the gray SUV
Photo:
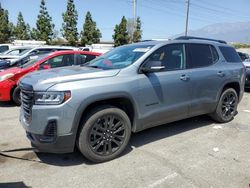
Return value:
[(26, 90), (21, 91), (22, 109), (23, 109), (25, 121), (28, 123), (31, 121), (33, 98), (34, 98), (34, 94), (32, 91), (26, 91)]

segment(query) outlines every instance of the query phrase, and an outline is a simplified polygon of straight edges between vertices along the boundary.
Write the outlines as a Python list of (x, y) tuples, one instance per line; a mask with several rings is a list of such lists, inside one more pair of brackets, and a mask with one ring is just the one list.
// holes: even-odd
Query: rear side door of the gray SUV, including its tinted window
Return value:
[(224, 68), (213, 45), (190, 43), (187, 49), (192, 87), (189, 116), (210, 113), (216, 107), (216, 97), (224, 82)]

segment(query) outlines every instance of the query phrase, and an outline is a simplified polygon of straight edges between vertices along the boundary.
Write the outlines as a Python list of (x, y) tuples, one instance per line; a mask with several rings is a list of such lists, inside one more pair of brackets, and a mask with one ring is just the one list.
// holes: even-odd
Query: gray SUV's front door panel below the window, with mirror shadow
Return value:
[[(162, 55), (156, 57), (160, 56)], [(167, 56), (170, 59), (171, 55)], [(159, 60), (155, 57), (152, 59), (153, 61)], [(163, 65), (166, 69), (162, 72), (140, 75), (139, 108), (141, 114), (139, 114), (139, 120), (141, 129), (184, 119), (188, 115), (191, 99), (190, 70), (175, 70), (175, 66), (164, 64), (164, 61)]]

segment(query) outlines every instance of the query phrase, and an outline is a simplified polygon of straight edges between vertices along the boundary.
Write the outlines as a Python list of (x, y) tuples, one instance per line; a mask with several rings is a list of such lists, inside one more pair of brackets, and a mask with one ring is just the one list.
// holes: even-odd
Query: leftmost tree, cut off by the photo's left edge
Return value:
[(10, 39), (10, 25), (9, 25), (8, 11), (4, 10), (0, 3), (0, 43), (8, 42)]

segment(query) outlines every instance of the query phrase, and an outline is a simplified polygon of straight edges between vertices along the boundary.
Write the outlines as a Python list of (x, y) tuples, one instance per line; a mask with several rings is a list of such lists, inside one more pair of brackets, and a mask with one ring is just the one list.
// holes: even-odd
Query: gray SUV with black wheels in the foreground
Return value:
[(181, 37), (117, 47), (79, 67), (20, 81), (20, 121), (33, 146), (94, 162), (119, 156), (131, 132), (209, 114), (231, 121), (245, 68), (223, 41)]

